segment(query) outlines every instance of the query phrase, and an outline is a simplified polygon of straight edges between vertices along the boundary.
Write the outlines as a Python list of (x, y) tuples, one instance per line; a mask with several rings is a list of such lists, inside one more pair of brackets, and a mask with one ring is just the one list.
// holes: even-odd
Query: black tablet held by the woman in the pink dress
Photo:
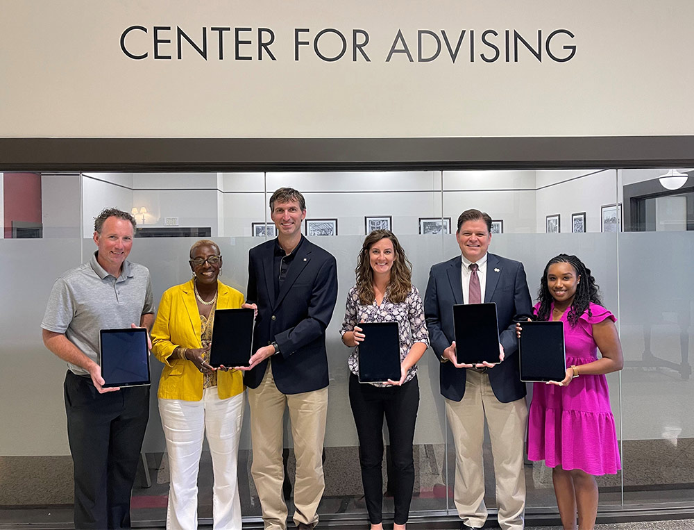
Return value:
[(521, 327), (521, 381), (564, 380), (564, 322), (521, 322)]

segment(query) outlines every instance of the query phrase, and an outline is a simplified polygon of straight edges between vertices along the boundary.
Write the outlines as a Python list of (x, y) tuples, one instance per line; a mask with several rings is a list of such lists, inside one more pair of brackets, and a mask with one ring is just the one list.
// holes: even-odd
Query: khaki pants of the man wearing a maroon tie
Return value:
[(454, 500), (458, 515), (469, 527), (482, 528), (486, 522), (482, 464), (486, 417), (496, 474), (499, 526), (502, 530), (522, 530), (525, 513), (525, 398), (501, 403), (491, 389), (489, 376), (468, 370), (465, 395), (461, 401), (446, 399), (446, 416), (455, 444)]

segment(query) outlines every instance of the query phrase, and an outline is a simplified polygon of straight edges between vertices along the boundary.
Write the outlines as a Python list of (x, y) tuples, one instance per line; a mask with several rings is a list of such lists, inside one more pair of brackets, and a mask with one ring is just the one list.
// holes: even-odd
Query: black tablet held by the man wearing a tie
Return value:
[(455, 356), (459, 363), (500, 363), (496, 304), (456, 304), (453, 306), (453, 328)]

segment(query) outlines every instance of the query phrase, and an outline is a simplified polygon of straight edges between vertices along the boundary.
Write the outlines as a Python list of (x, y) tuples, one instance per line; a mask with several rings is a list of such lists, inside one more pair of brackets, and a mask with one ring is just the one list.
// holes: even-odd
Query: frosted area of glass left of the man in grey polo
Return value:
[(0, 310), (0, 423), (6, 428), (0, 429), (0, 455), (69, 454), (62, 398), (67, 365), (44, 346), (41, 320), (53, 282), (81, 263), (81, 240), (0, 240), (0, 256), (6, 280)]

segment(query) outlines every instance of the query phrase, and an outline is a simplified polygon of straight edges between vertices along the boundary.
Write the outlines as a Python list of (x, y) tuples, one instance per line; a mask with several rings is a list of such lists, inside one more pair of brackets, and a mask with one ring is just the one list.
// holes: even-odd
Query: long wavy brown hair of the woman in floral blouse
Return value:
[(374, 230), (364, 239), (364, 245), (362, 245), (362, 250), (359, 252), (359, 257), (357, 257), (357, 268), (355, 269), (357, 273), (357, 295), (359, 295), (359, 301), (364, 306), (373, 304), (375, 297), (369, 251), (371, 251), (373, 245), (384, 238), (393, 242), (393, 250), (395, 251), (391, 278), (387, 286), (388, 299), (394, 304), (399, 304), (405, 301), (407, 295), (412, 290), (412, 263), (405, 256), (405, 251), (403, 247), (400, 247), (398, 238), (389, 230)]

